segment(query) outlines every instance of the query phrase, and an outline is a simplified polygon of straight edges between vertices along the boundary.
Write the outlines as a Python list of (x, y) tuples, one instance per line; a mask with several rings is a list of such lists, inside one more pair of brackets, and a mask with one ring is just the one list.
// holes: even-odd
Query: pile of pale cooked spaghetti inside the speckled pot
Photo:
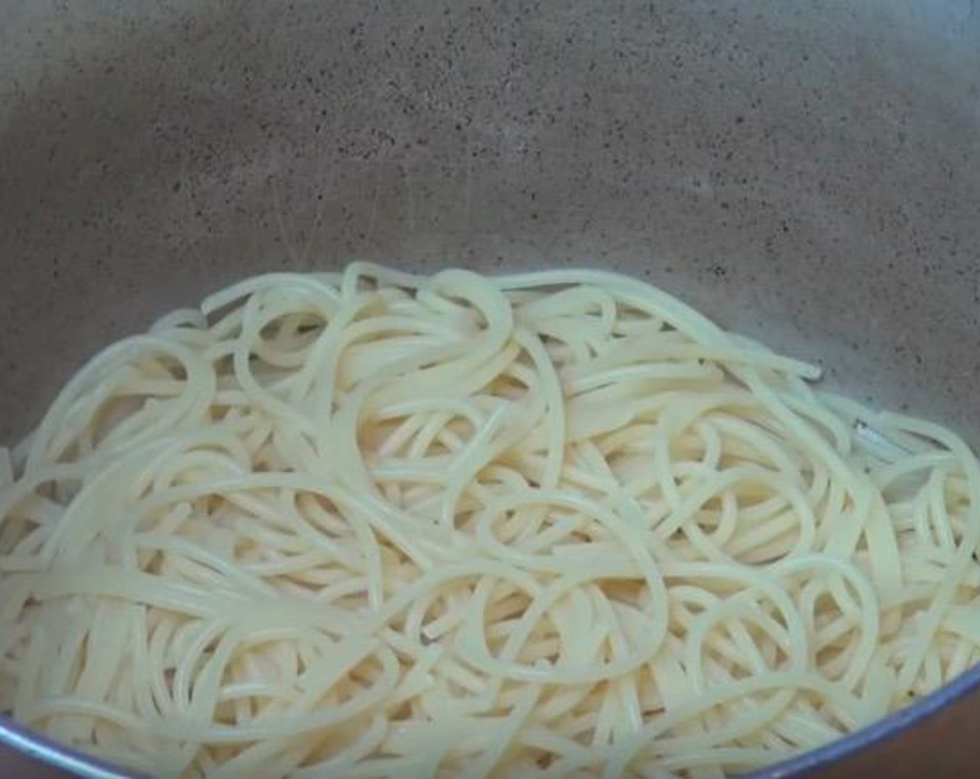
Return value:
[(939, 426), (601, 271), (242, 281), (0, 449), (0, 710), (171, 777), (750, 770), (980, 659)]

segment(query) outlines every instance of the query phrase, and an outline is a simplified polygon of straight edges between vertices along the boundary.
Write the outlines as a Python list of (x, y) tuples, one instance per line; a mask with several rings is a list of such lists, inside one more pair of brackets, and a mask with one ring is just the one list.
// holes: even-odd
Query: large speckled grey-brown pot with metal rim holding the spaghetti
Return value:
[[(980, 442), (974, 0), (2, 5), (0, 440), (157, 314), (367, 258), (624, 269)], [(972, 775), (978, 685), (760, 776)]]

